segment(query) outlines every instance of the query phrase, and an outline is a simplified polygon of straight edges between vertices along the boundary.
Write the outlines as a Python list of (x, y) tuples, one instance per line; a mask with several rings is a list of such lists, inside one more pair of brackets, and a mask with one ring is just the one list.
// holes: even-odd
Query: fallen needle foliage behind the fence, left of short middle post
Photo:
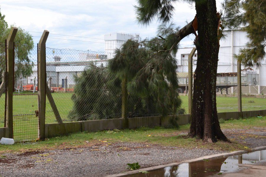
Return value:
[(116, 87), (120, 83), (112, 80), (112, 76), (107, 68), (90, 65), (75, 77), (74, 106), (68, 117), (79, 121), (117, 117), (117, 108), (121, 110), (121, 88)]

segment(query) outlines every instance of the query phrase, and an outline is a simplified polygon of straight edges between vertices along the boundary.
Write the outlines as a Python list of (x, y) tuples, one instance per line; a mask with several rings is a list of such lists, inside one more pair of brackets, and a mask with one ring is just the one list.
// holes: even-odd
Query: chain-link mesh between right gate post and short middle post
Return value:
[[(46, 47), (47, 84), (64, 122), (121, 117), (121, 86), (105, 52)], [(56, 122), (46, 99), (46, 123)]]

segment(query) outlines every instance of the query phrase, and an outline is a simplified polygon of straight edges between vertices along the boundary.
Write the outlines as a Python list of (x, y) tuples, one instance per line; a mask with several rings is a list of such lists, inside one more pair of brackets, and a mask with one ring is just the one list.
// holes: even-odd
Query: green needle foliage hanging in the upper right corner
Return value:
[(247, 66), (260, 65), (265, 57), (266, 46), (266, 1), (225, 0), (224, 26), (247, 32), (249, 42), (235, 57)]

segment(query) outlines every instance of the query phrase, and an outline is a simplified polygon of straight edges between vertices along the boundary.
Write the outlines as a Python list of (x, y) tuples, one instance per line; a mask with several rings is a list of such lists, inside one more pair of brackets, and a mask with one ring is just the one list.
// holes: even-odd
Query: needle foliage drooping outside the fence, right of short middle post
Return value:
[[(176, 60), (168, 52), (165, 43), (159, 38), (141, 43), (147, 53), (142, 55), (145, 65), (127, 83), (129, 93), (152, 100), (153, 104), (150, 105), (162, 115), (175, 114), (181, 104), (177, 92)], [(139, 50), (143, 53), (142, 47)]]

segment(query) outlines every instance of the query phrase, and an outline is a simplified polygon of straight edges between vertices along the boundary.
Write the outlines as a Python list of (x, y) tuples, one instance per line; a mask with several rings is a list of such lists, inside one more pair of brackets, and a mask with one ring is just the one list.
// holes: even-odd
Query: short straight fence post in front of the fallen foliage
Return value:
[(127, 122), (127, 89), (126, 89), (126, 77), (122, 80), (122, 118), (124, 119), (124, 128), (128, 128)]

